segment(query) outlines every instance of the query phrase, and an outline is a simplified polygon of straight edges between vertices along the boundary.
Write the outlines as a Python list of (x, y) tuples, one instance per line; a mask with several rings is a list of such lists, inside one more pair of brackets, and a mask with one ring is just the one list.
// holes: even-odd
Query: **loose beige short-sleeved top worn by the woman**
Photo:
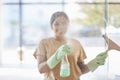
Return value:
[[(52, 79), (53, 76), (57, 80), (77, 80), (79, 76), (82, 74), (81, 69), (77, 65), (77, 62), (84, 62), (86, 58), (86, 54), (84, 52), (83, 47), (81, 46), (80, 42), (75, 39), (68, 40), (71, 44), (72, 51), (68, 57), (68, 61), (70, 63), (70, 76), (66, 78), (60, 77), (60, 63), (51, 70), (51, 72), (45, 73), (45, 80), (55, 80)], [(37, 48), (37, 55), (40, 55), (41, 58), (49, 59), (55, 51), (62, 45), (63, 42), (59, 42), (54, 38), (47, 38), (40, 41), (40, 44)]]

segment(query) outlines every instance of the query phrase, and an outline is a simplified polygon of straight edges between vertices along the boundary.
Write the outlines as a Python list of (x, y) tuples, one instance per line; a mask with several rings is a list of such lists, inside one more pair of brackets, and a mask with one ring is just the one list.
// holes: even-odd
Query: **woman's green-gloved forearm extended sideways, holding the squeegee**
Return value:
[(107, 51), (98, 54), (94, 59), (89, 61), (87, 64), (84, 62), (78, 62), (78, 66), (80, 67), (82, 73), (87, 73), (89, 71), (95, 71), (99, 66), (104, 65), (105, 59), (107, 58)]

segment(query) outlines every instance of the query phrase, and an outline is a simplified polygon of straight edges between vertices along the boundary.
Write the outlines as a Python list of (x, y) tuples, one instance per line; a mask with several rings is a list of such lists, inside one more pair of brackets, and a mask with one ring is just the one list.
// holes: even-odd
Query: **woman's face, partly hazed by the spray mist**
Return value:
[(67, 32), (69, 22), (64, 16), (57, 17), (52, 24), (55, 36), (62, 37)]

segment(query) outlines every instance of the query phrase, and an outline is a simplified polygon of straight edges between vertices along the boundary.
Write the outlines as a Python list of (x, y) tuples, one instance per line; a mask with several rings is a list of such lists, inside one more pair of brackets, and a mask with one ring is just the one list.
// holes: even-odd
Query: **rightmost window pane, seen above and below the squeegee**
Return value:
[[(106, 28), (108, 37), (120, 46), (120, 5), (109, 5), (109, 25)], [(113, 50), (109, 54), (109, 79), (120, 79), (120, 51)], [(115, 67), (116, 66), (116, 67)]]

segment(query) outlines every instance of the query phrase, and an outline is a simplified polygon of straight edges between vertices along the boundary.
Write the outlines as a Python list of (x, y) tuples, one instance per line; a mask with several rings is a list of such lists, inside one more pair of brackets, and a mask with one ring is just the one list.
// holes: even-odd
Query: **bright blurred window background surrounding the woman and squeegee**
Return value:
[[(0, 80), (43, 80), (33, 57), (42, 38), (52, 35), (50, 17), (64, 11), (68, 37), (78, 39), (89, 62), (107, 49), (102, 35), (120, 45), (120, 0), (0, 0)], [(120, 52), (81, 80), (120, 80)]]

